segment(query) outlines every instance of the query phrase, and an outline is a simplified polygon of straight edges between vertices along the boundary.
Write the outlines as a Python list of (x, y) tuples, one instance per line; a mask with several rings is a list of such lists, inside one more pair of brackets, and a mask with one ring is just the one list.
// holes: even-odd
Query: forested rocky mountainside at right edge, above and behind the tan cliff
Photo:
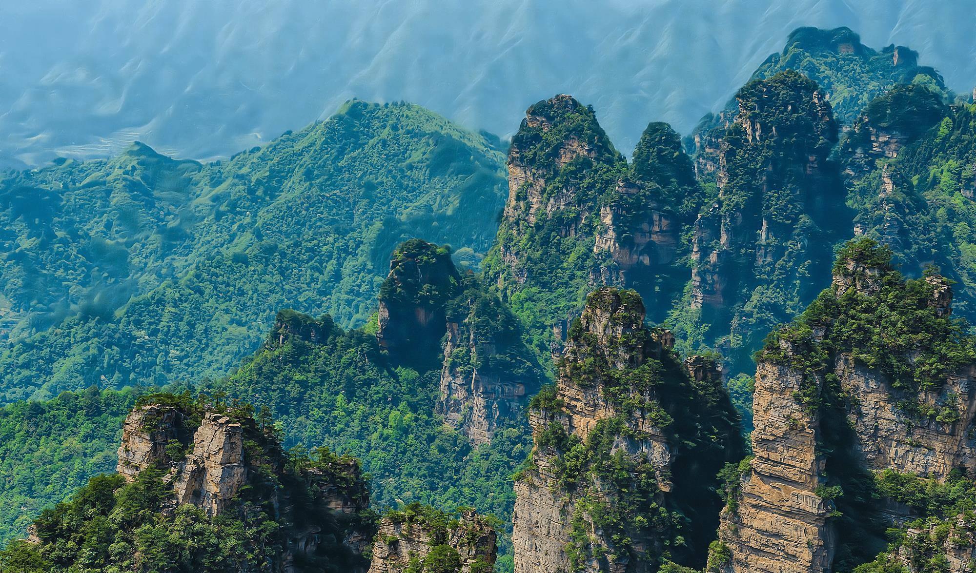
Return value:
[(929, 264), (958, 282), (956, 314), (976, 302), (976, 106), (919, 87), (877, 97), (841, 153), (855, 230), (889, 245), (902, 270)]

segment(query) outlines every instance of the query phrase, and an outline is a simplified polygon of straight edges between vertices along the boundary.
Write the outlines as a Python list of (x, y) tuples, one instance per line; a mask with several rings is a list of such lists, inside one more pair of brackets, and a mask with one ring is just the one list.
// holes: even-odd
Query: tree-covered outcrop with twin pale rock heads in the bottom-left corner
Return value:
[(127, 416), (115, 474), (39, 516), (4, 571), (364, 573), (376, 532), (358, 462), (288, 454), (248, 404), (151, 395)]

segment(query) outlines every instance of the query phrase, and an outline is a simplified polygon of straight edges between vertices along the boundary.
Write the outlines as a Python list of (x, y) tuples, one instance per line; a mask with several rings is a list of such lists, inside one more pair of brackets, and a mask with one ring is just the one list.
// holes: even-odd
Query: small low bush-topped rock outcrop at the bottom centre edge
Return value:
[(463, 510), (458, 519), (408, 507), (380, 521), (369, 573), (454, 571), (489, 573), (498, 534), (482, 516)]

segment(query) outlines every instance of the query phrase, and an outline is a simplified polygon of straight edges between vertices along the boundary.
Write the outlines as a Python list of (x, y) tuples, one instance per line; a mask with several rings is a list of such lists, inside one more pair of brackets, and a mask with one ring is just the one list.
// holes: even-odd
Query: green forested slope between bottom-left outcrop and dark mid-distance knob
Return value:
[(528, 454), (527, 437), (508, 429), (472, 448), (434, 413), (439, 378), (439, 367), (391, 366), (372, 332), (282, 312), (264, 348), (211, 387), (267, 407), (286, 446), (361, 456), (380, 506), (453, 503), (508, 516), (509, 477)]

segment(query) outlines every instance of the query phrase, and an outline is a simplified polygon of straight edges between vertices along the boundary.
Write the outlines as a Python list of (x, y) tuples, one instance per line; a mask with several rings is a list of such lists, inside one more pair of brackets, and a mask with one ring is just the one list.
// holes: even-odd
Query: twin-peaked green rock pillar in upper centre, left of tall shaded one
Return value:
[(629, 165), (590, 107), (554, 96), (526, 111), (512, 138), (508, 175), (508, 202), (485, 276), (503, 300), (521, 293), (538, 305), (540, 323), (532, 327), (552, 329), (556, 355), (584, 293), (599, 285), (636, 289), (652, 319), (664, 320), (687, 280), (681, 236), (701, 198), (670, 126), (648, 125)]

